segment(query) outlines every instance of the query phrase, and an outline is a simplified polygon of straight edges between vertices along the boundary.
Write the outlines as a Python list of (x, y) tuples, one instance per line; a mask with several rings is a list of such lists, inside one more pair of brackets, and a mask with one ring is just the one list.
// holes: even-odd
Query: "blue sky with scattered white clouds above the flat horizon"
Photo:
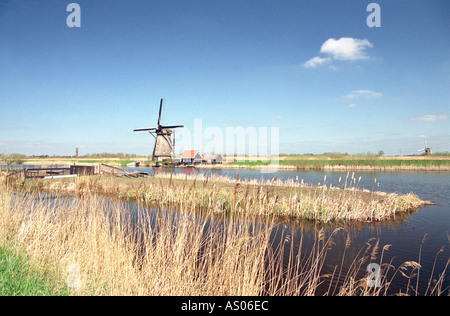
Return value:
[(1, 153), (148, 155), (160, 98), (281, 153), (450, 151), (448, 0), (73, 1), (69, 28), (71, 2), (0, 0)]

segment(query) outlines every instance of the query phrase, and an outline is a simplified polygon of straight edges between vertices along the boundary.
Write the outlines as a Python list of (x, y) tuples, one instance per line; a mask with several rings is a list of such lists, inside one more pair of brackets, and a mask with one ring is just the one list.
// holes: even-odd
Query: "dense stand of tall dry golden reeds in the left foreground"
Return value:
[[(26, 252), (34, 265), (66, 280), (74, 294), (246, 296), (299, 290), (283, 285), (283, 271), (267, 270), (270, 221), (255, 225), (251, 218), (232, 216), (219, 225), (143, 209), (134, 216), (121, 203), (93, 195), (49, 200), (2, 190), (0, 243)], [(271, 255), (277, 265), (279, 253)]]

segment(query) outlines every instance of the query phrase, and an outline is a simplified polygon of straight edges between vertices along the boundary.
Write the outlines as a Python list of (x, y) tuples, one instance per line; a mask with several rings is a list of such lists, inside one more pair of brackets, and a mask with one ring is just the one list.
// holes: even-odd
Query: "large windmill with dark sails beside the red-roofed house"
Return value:
[(153, 148), (152, 160), (159, 161), (173, 157), (173, 148), (175, 147), (175, 137), (172, 142), (172, 129), (184, 127), (184, 125), (161, 125), (161, 112), (164, 99), (159, 104), (158, 124), (156, 127), (136, 128), (133, 132), (149, 132), (155, 138), (155, 147)]

